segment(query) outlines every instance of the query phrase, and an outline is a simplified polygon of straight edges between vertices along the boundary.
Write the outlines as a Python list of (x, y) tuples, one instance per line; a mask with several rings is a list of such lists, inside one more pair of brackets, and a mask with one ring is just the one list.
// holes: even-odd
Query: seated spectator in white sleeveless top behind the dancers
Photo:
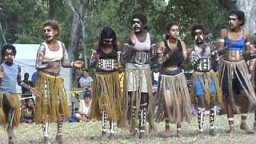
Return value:
[(89, 122), (90, 120), (90, 90), (87, 90), (83, 95), (83, 100), (79, 102), (78, 112), (75, 114), (75, 117), (78, 118), (79, 121)]

